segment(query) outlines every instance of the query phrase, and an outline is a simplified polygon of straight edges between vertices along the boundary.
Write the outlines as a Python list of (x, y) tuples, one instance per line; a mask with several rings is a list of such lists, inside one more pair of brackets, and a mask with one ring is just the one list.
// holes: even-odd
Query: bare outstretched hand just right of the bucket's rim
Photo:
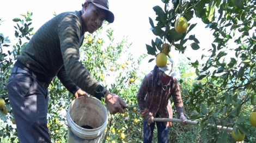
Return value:
[(125, 108), (128, 106), (118, 95), (109, 92), (106, 93), (105, 103), (110, 114), (124, 113)]

